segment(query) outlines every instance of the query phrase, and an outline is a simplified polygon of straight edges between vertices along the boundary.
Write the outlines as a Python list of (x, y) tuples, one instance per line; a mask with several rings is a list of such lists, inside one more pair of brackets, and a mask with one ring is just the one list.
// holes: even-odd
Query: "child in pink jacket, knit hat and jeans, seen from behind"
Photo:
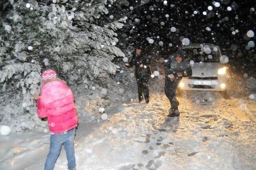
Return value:
[(68, 169), (74, 170), (76, 167), (74, 136), (78, 123), (74, 95), (67, 84), (57, 78), (56, 72), (50, 69), (42, 73), (40, 90), (41, 96), (35, 95), (37, 114), (40, 118), (48, 119), (51, 132), (50, 152), (44, 170), (53, 170), (62, 145), (66, 150)]

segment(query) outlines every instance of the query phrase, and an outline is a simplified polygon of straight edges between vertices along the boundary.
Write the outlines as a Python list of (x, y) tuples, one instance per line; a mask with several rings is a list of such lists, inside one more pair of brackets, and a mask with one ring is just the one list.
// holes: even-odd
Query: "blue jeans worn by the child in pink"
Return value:
[(76, 128), (59, 134), (51, 134), (50, 151), (46, 158), (44, 170), (53, 170), (56, 160), (60, 154), (62, 145), (64, 145), (64, 148), (66, 150), (68, 168), (72, 169), (76, 167), (76, 158), (74, 150), (75, 134)]

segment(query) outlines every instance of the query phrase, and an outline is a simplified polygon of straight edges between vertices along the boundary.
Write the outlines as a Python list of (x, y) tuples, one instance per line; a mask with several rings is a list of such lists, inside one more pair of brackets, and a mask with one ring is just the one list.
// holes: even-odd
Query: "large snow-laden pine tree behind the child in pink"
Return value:
[(108, 14), (108, 3), (114, 0), (2, 3), (0, 122), (35, 115), (33, 95), (46, 68), (57, 70), (68, 83), (116, 73), (119, 66), (112, 60), (124, 53), (115, 46), (115, 31), (122, 28), (126, 17), (98, 26), (100, 16)]

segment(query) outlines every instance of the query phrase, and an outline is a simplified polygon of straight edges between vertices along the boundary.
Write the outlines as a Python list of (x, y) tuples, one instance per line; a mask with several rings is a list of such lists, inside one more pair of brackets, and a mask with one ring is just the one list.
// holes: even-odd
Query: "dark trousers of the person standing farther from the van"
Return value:
[(144, 98), (149, 98), (148, 81), (149, 78), (137, 79), (139, 101), (143, 100), (142, 93), (144, 93)]

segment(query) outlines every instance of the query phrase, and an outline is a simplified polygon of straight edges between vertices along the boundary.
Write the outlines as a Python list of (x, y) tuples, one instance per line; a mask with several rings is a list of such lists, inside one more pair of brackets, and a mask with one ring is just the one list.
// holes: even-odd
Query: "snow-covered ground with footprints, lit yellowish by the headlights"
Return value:
[[(98, 123), (80, 118), (77, 170), (256, 169), (255, 102), (187, 92), (178, 98), (180, 118), (167, 118), (169, 102), (158, 88), (163, 82), (154, 84), (149, 104), (134, 99), (108, 108), (108, 120)], [(0, 136), (0, 169), (43, 169), (49, 136)], [(62, 148), (55, 170), (66, 164)]]

